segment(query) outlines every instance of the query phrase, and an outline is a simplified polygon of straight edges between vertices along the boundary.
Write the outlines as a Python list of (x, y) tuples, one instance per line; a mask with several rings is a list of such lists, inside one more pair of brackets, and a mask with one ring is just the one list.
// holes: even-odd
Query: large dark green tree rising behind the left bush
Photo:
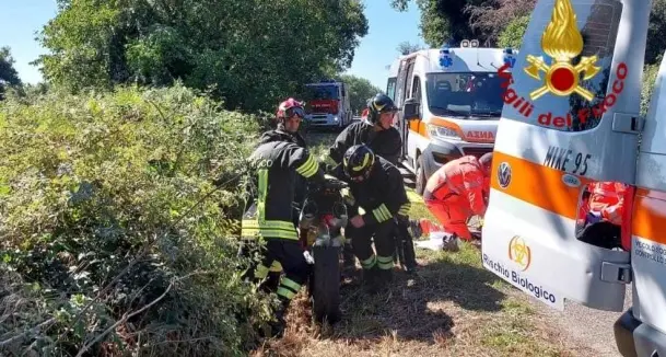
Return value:
[(208, 90), (227, 108), (273, 110), (351, 65), (360, 0), (60, 1), (40, 36), (45, 78), (74, 93), (118, 83)]

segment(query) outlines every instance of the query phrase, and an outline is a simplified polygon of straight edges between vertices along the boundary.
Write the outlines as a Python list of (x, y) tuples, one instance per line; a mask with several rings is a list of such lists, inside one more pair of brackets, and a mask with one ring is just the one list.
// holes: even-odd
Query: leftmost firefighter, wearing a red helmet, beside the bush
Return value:
[[(294, 101), (288, 100), (287, 104), (281, 105), (278, 117), (289, 133), (294, 133), (304, 117), (304, 111)], [(243, 217), (241, 231), (245, 240), (261, 239), (266, 246), (260, 252), (261, 263), (250, 268), (246, 277), (261, 281), (274, 262), (281, 264), (284, 275), (277, 289), (281, 304), (276, 311), (277, 322), (271, 324), (273, 335), (281, 336), (284, 312), (307, 279), (309, 269), (293, 218), (296, 177), (323, 182), (324, 171), (315, 157), (288, 135), (262, 136), (249, 161), (252, 170), (256, 172), (252, 189), (253, 205)], [(252, 247), (253, 244), (246, 246)]]

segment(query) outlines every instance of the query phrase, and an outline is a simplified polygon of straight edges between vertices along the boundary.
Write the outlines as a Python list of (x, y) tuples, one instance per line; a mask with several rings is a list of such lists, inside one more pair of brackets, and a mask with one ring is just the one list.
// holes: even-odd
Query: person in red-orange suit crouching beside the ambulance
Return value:
[[(480, 159), (465, 156), (447, 162), (428, 178), (423, 200), (446, 232), (466, 241), (472, 239), (467, 219), (486, 215), (491, 161), (491, 152)], [(423, 232), (430, 230), (421, 227)]]

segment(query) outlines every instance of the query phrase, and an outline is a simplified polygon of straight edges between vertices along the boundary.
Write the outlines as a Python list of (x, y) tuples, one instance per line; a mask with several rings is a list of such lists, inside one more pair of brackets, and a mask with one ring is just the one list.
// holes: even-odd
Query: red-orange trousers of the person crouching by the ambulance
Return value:
[(469, 241), (471, 232), (467, 227), (467, 219), (471, 216), (471, 211), (461, 205), (459, 199), (458, 195), (444, 200), (427, 199), (425, 207), (435, 216), (446, 232), (455, 233), (460, 239)]

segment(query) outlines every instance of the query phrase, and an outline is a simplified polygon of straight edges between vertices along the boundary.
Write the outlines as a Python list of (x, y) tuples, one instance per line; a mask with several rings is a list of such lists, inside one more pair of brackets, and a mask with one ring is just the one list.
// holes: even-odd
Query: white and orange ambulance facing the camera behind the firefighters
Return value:
[(465, 39), (456, 48), (401, 56), (389, 67), (386, 93), (401, 108), (395, 123), (401, 165), (416, 176), (419, 194), (444, 163), (492, 151), (503, 106), (499, 71), (515, 54)]

